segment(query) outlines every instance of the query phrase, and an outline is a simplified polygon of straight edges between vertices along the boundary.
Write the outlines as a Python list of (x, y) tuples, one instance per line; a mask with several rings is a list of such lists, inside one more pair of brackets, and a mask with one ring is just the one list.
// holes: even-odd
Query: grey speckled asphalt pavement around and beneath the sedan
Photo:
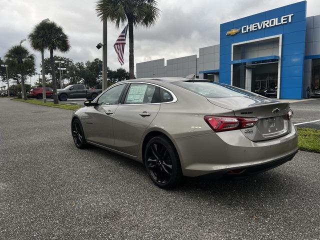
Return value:
[(77, 149), (71, 113), (0, 99), (0, 239), (319, 239), (320, 154), (163, 190), (140, 163)]

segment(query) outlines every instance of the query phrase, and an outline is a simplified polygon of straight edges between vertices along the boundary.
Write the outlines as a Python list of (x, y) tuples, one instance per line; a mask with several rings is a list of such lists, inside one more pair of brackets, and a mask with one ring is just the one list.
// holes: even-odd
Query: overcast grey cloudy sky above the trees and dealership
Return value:
[[(297, 0), (159, 0), (161, 14), (156, 25), (134, 29), (134, 61), (198, 54), (199, 47), (219, 43), (220, 23), (294, 2)], [(96, 16), (94, 0), (0, 0), (0, 6), (1, 57), (45, 18), (62, 25), (70, 38), (71, 50), (57, 55), (74, 62), (102, 57), (101, 49), (95, 48), (102, 41), (102, 23)], [(317, 14), (320, 1), (307, 0), (307, 16)], [(113, 43), (122, 29), (111, 24), (107, 27), (108, 66), (116, 69), (120, 64)], [(30, 49), (28, 42), (23, 44)], [(39, 67), (40, 53), (34, 54)], [(123, 67), (128, 70), (128, 41), (124, 54)]]

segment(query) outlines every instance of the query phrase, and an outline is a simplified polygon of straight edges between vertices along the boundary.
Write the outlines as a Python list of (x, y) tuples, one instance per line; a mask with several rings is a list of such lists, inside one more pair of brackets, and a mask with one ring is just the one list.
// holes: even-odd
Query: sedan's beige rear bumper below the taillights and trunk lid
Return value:
[(268, 164), (293, 157), (297, 152), (297, 134), (293, 124), (290, 133), (265, 141), (251, 141), (240, 130), (174, 140), (182, 172), (186, 176), (219, 171), (226, 173), (232, 169)]

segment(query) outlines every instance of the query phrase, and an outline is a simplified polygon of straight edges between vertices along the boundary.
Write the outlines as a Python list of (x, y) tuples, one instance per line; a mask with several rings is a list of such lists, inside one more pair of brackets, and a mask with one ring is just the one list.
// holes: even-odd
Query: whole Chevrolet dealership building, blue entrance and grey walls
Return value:
[(320, 15), (306, 17), (306, 1), (220, 24), (220, 44), (198, 55), (136, 64), (136, 76), (196, 74), (277, 98), (320, 95)]

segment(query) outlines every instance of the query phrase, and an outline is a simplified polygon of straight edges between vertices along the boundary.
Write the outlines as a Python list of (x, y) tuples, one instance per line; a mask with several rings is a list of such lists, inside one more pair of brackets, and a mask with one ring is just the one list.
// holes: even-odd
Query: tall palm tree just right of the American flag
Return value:
[(95, 10), (102, 21), (109, 21), (117, 28), (128, 23), (129, 29), (129, 78), (134, 77), (133, 26), (149, 27), (159, 16), (157, 0), (97, 0)]

